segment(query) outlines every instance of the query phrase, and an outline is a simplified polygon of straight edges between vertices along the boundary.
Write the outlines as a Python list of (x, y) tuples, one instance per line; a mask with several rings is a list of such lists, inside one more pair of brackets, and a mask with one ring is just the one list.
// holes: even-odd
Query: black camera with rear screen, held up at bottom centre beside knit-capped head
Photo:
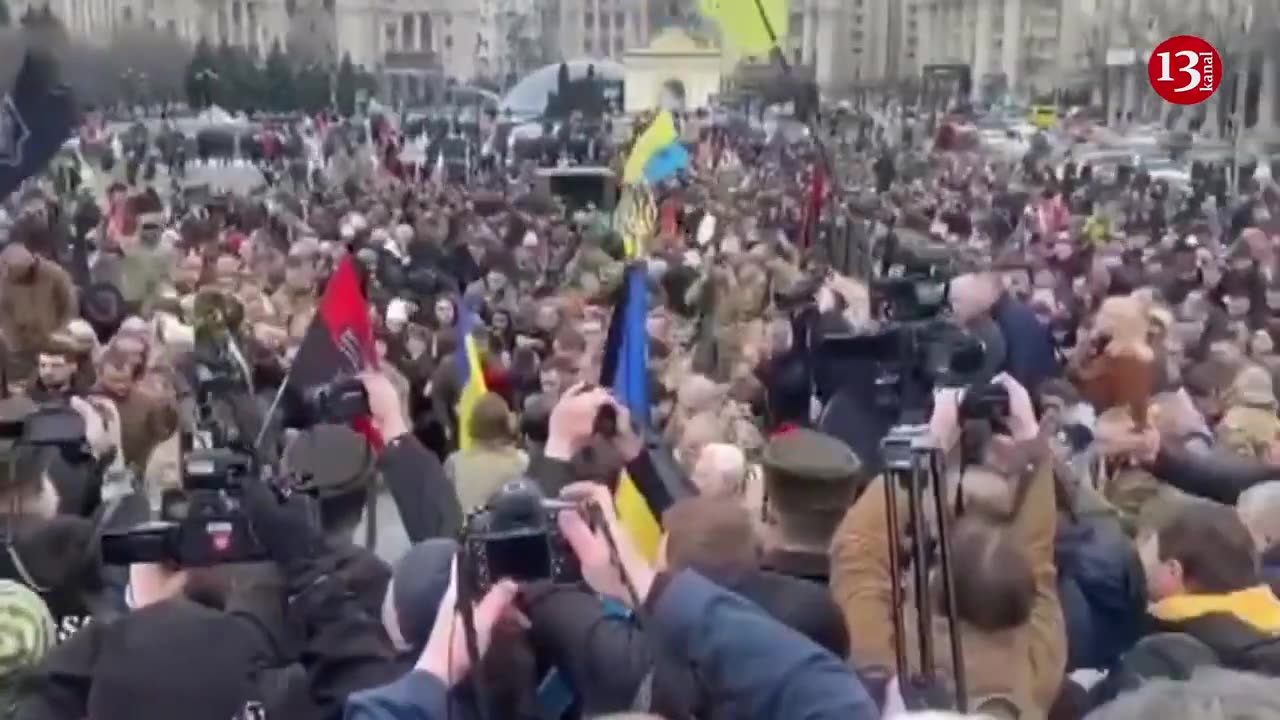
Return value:
[(527, 479), (512, 480), (472, 512), (462, 530), (463, 577), (483, 597), (498, 580), (558, 584), (582, 579), (577, 556), (561, 536), (557, 515), (575, 505), (547, 500)]

